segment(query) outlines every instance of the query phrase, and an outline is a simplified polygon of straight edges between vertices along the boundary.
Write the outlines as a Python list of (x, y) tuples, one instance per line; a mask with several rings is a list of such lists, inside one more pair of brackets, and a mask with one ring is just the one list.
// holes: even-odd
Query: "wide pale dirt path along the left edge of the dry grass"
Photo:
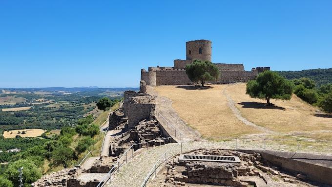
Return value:
[(177, 133), (182, 133), (184, 141), (201, 140), (201, 135), (198, 131), (188, 127), (187, 124), (179, 117), (177, 112), (172, 108), (172, 101), (166, 97), (158, 95), (153, 87), (147, 86), (147, 93), (158, 96), (156, 98), (156, 112), (160, 112), (165, 119), (177, 129)]

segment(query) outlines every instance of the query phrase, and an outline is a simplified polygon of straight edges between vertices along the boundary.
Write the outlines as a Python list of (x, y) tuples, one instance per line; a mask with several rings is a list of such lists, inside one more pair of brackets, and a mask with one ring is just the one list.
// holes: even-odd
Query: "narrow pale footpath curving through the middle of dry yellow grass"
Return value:
[(244, 116), (242, 116), (241, 112), (239, 111), (239, 109), (237, 109), (235, 107), (235, 102), (234, 100), (230, 97), (230, 95), (228, 95), (227, 93), (227, 88), (224, 88), (222, 94), (226, 96), (227, 101), (228, 101), (228, 107), (230, 108), (230, 110), (232, 110), (232, 112), (234, 113), (234, 115), (237, 117), (238, 120), (242, 121), (244, 124), (249, 125), (250, 127), (256, 128), (259, 131), (262, 131), (264, 133), (267, 134), (279, 134), (278, 132), (275, 131), (271, 131), (270, 129), (267, 129), (265, 127), (261, 127), (258, 126), (252, 122), (250, 122), (248, 119), (246, 119)]

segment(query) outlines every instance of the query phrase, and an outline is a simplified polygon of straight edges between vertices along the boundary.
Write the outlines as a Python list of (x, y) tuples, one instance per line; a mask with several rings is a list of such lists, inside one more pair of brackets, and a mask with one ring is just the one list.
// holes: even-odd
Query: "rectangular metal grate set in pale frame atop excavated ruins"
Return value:
[(206, 162), (233, 162), (240, 163), (237, 156), (195, 155), (180, 154), (179, 160), (206, 161)]

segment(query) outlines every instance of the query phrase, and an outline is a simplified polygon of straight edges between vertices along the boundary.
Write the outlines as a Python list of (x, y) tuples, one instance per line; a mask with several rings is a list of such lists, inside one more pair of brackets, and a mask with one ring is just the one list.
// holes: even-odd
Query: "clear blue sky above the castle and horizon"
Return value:
[(196, 39), (246, 70), (331, 68), (332, 0), (1, 0), (0, 87), (137, 87)]

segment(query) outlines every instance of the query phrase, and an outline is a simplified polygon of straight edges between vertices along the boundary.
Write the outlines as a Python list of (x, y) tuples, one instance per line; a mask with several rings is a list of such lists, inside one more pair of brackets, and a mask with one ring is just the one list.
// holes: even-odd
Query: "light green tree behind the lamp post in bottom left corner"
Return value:
[(24, 187), (29, 187), (31, 183), (37, 181), (42, 176), (42, 172), (32, 161), (18, 160), (14, 163), (9, 164), (4, 174), (4, 176), (9, 179), (16, 187), (20, 185), (18, 169), (21, 167), (23, 167), (22, 176)]

